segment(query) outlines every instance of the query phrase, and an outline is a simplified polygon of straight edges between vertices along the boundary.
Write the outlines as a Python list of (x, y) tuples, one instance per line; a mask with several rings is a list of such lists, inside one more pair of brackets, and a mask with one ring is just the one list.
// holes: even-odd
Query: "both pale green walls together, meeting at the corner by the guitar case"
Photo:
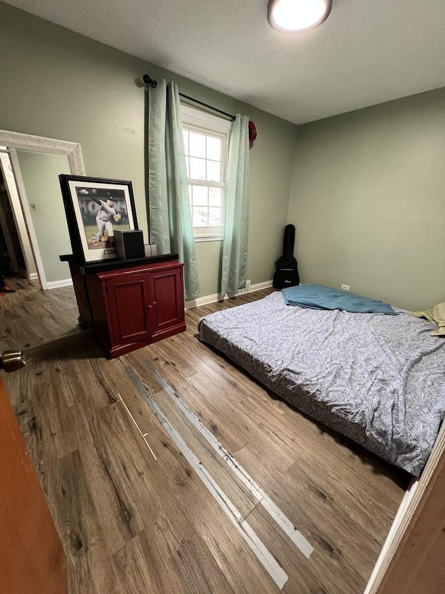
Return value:
[[(406, 308), (444, 301), (444, 89), (302, 125), (297, 134), (280, 118), (3, 3), (0, 26), (0, 128), (79, 142), (87, 175), (131, 180), (146, 238), (145, 72), (257, 125), (252, 283), (272, 278), (290, 222), (303, 282), (346, 283)], [(196, 247), (202, 295), (212, 295), (221, 243)]]

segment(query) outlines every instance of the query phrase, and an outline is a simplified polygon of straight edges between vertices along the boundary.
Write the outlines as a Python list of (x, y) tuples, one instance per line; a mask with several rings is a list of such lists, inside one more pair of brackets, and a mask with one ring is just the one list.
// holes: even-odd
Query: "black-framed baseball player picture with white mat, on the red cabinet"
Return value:
[(58, 177), (73, 255), (81, 263), (116, 258), (114, 231), (138, 228), (131, 182)]

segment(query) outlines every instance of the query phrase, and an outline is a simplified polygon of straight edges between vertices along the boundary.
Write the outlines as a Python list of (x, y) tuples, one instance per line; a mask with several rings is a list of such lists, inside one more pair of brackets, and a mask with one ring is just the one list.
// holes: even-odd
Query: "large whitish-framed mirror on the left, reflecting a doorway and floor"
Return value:
[(38, 347), (81, 331), (70, 271), (59, 259), (71, 253), (60, 173), (84, 175), (78, 143), (0, 130), (3, 251), (16, 288), (0, 299), (3, 348)]

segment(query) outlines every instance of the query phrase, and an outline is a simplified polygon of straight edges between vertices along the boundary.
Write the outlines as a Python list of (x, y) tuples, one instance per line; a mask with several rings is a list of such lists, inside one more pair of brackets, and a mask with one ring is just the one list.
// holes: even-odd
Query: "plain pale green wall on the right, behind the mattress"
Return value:
[(298, 127), (302, 282), (411, 310), (445, 301), (444, 158), (443, 88)]

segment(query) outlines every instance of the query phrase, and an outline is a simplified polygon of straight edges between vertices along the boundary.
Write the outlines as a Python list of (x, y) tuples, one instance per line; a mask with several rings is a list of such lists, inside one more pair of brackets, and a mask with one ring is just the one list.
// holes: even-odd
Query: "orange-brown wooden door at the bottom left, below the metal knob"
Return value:
[(65, 554), (0, 377), (0, 592), (67, 594)]

